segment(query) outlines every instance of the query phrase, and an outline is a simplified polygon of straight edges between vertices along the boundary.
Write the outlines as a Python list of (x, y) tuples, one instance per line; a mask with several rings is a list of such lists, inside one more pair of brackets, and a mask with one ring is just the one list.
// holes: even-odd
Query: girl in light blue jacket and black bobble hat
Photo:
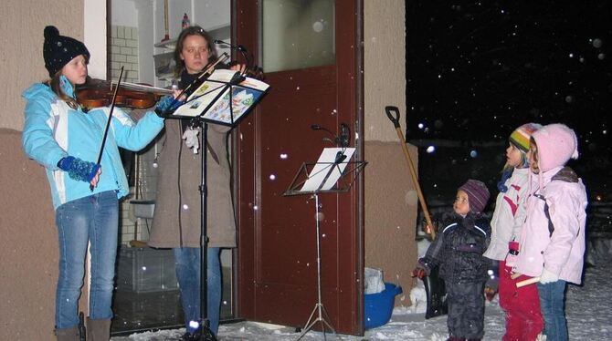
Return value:
[[(141, 150), (164, 128), (153, 112), (134, 123), (121, 109), (83, 112), (74, 93), (85, 82), (90, 52), (83, 43), (45, 27), (43, 57), (50, 79), (27, 88), (22, 144), (45, 168), (56, 212), (59, 274), (56, 293), (58, 340), (79, 340), (79, 296), (85, 253), (91, 244), (88, 340), (108, 340), (117, 253), (119, 199), (128, 181), (118, 147)], [(172, 100), (164, 98), (167, 106)], [(158, 104), (158, 107), (160, 105)], [(164, 108), (162, 108), (164, 109)], [(106, 145), (100, 152), (112, 114)], [(91, 187), (90, 187), (91, 186)]]

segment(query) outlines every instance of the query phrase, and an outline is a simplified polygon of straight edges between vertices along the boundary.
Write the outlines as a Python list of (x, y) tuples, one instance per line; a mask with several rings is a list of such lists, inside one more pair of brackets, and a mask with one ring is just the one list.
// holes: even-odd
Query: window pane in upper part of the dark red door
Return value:
[(334, 9), (333, 0), (264, 0), (264, 70), (334, 64)]

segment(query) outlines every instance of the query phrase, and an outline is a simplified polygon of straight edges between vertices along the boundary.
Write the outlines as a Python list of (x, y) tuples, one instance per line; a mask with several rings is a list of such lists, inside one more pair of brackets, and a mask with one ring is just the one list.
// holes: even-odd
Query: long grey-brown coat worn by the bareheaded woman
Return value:
[[(236, 219), (232, 204), (226, 135), (229, 128), (208, 125), (206, 234), (209, 247), (236, 247)], [(200, 131), (200, 134), (202, 132)], [(181, 120), (166, 119), (157, 158), (158, 181), (149, 246), (199, 247), (201, 157), (182, 140)], [(201, 135), (198, 135), (201, 144)], [(179, 164), (180, 155), (180, 164)], [(179, 194), (180, 189), (180, 194)], [(180, 218), (180, 219), (179, 219)]]

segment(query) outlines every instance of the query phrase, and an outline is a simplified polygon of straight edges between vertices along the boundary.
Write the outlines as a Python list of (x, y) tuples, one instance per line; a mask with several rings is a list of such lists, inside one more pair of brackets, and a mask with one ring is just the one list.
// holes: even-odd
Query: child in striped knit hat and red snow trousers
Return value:
[(527, 123), (510, 134), (506, 164), (498, 183), (500, 193), (491, 218), (491, 244), (484, 253), (485, 257), (500, 262), (500, 305), (506, 313), (506, 334), (501, 341), (533, 341), (544, 326), (537, 286), (517, 288), (517, 282), (529, 277), (511, 277), (529, 194), (529, 141), (540, 128), (539, 124)]

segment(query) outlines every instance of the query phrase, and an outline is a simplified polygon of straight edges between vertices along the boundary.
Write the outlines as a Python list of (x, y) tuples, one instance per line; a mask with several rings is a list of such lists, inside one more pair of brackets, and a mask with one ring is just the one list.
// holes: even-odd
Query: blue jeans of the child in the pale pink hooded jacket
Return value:
[(539, 284), (540, 306), (544, 318), (544, 335), (548, 341), (566, 341), (565, 281)]

